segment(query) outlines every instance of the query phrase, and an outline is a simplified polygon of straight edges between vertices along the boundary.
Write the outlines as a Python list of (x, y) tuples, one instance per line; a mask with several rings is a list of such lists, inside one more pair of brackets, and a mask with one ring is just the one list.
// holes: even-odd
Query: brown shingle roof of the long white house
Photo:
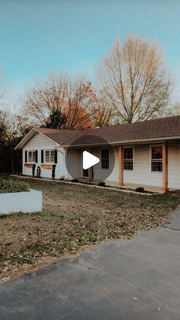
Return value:
[(83, 131), (36, 128), (60, 145), (180, 137), (180, 115)]

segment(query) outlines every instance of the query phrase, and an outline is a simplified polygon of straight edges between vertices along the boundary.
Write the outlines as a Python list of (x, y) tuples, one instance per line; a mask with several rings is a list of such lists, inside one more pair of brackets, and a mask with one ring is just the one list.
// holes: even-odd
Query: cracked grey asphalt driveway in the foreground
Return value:
[(0, 286), (1, 320), (179, 320), (180, 211)]

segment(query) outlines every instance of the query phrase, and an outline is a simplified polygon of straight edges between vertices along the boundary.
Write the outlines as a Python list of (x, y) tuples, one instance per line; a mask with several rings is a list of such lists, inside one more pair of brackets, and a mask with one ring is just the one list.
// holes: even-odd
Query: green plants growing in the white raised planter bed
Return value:
[(0, 178), (0, 193), (29, 191), (29, 185), (22, 180)]

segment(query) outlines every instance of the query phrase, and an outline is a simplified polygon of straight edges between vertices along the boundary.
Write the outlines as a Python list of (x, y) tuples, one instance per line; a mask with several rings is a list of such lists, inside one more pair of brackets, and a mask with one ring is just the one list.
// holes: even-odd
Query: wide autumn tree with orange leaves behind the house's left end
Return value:
[[(92, 127), (91, 106), (95, 101), (91, 83), (83, 77), (72, 79), (65, 74), (50, 73), (44, 83), (35, 81), (23, 103), (25, 115), (38, 125), (49, 126), (54, 115), (55, 127), (83, 129)], [(63, 119), (59, 119), (58, 115)]]

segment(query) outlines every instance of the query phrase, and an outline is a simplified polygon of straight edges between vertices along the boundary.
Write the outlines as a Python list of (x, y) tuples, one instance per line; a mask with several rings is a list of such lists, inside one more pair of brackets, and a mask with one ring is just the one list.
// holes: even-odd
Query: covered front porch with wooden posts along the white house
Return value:
[[(131, 152), (124, 154), (124, 150), (129, 149)], [(112, 153), (114, 153), (115, 162), (107, 177), (104, 176), (105, 170), (101, 166), (100, 150), (100, 147), (99, 150), (88, 148), (88, 152), (98, 156), (100, 162), (88, 169), (88, 177), (76, 175), (80, 181), (95, 184), (104, 181), (106, 185), (126, 189), (135, 189), (141, 186), (144, 190), (159, 193), (180, 189), (179, 142), (160, 141), (157, 143), (153, 141), (138, 145), (126, 144), (109, 147), (108, 169), (112, 164)]]

